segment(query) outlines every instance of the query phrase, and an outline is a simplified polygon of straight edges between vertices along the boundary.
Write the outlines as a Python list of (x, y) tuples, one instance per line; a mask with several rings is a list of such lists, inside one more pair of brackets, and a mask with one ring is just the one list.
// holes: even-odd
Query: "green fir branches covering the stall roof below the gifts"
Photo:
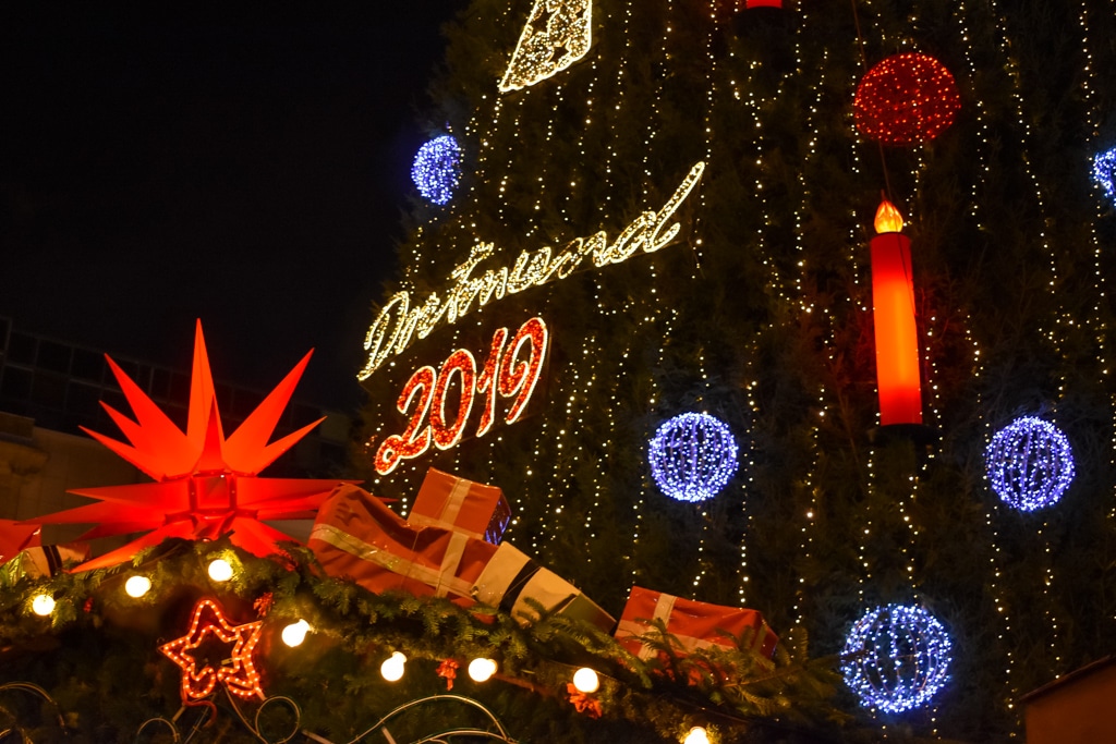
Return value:
[[(454, 693), (497, 712), (519, 741), (545, 740), (558, 729), (571, 736), (568, 741), (672, 741), (690, 719), (723, 722), (719, 725), (727, 732), (743, 732), (763, 721), (782, 722), (808, 735), (840, 717), (827, 704), (833, 695), (833, 660), (809, 660), (801, 640), (786, 644), (773, 660), (729, 647), (685, 657), (661, 627), (646, 640), (668, 649), (670, 659), (644, 661), (600, 630), (550, 615), (537, 602), (530, 602), (533, 622), (525, 627), (491, 608), (374, 595), (350, 581), (323, 576), (305, 549), (289, 545), (288, 551), (281, 559), (264, 560), (227, 541), (173, 541), (141, 557), (134, 567), (99, 571), (96, 577), (22, 579), (0, 606), (0, 715), (35, 731), (57, 727), (56, 718), (40, 719), (26, 709), (26, 692), (4, 693), (6, 684), (31, 683), (42, 690), (40, 703), (61, 715), (67, 741), (132, 741), (144, 722), (172, 719), (181, 707), (181, 671), (157, 646), (186, 631), (194, 602), (215, 597), (235, 624), (263, 612), (256, 664), (266, 694), (290, 698), (301, 711), (300, 725), (330, 741), (350, 741), (393, 706), (444, 693), (445, 680), (435, 674), (443, 659), (461, 665)], [(218, 554), (234, 562), (238, 573), (214, 586), (202, 568)], [(158, 577), (150, 595), (140, 599), (123, 592), (123, 579), (136, 570)], [(57, 615), (51, 620), (28, 618), (26, 602), (47, 588), (64, 600), (59, 606), (76, 611), (65, 620)], [(261, 603), (261, 598), (269, 601)], [(287, 648), (278, 634), (300, 617), (314, 630), (301, 646)], [(751, 640), (731, 639), (744, 648)], [(381, 677), (379, 664), (395, 650), (406, 655), (407, 673), (392, 685)], [(498, 677), (485, 685), (463, 674), (478, 656), (500, 664)], [(566, 683), (579, 666), (591, 666), (603, 677), (596, 696), (604, 711), (600, 721), (577, 713), (567, 700)], [(17, 698), (10, 706), (8, 696)], [(244, 727), (230, 722), (234, 724), (238, 715), (253, 721), (260, 703), (230, 707), (220, 694), (215, 702), (215, 718), (202, 731), (220, 734), (205, 741), (251, 741)], [(278, 718), (290, 716), (287, 704), (268, 703), (267, 711), (262, 718), (273, 716), (277, 728)], [(537, 715), (539, 711), (546, 716)], [(179, 715), (184, 732), (210, 713), (191, 707)], [(446, 715), (444, 724), (468, 719), (464, 714)], [(393, 724), (393, 732), (398, 725), (398, 738), (401, 732), (421, 724), (430, 734), (439, 721), (437, 715), (420, 716), (411, 724)], [(152, 731), (156, 728), (165, 724), (152, 725)], [(48, 736), (48, 741), (54, 740)]]

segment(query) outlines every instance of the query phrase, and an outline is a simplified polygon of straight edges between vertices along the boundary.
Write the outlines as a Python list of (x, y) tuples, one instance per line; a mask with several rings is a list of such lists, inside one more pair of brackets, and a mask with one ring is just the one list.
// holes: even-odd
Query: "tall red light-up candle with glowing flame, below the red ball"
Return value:
[(876, 211), (872, 239), (872, 303), (876, 325), (879, 423), (922, 424), (918, 335), (914, 320), (911, 239), (903, 216), (886, 199)]

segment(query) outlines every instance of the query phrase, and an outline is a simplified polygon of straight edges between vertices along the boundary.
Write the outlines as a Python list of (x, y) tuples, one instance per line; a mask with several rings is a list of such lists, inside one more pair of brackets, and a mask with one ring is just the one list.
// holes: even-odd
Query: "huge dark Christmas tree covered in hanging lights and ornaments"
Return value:
[[(1018, 733), (1116, 621), (1112, 8), (529, 4), (448, 29), (455, 155), (415, 170), (448, 195), (365, 339), (369, 490), (497, 484), (507, 539), (614, 613), (756, 608), (845, 655), (865, 725)], [(896, 654), (943, 674), (881, 693)]]

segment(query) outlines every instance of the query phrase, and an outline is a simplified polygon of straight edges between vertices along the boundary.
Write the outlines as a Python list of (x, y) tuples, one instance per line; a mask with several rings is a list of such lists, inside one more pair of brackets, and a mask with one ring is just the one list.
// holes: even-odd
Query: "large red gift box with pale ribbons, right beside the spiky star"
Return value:
[(329, 576), (375, 592), (404, 590), (472, 603), (473, 582), (496, 553), (483, 540), (408, 524), (363, 489), (341, 484), (326, 499), (307, 545)]

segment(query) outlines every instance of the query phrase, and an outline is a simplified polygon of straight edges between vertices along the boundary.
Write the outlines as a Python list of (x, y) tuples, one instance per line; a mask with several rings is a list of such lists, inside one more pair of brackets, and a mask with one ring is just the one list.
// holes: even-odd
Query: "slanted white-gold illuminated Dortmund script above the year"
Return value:
[(653, 253), (665, 248), (682, 230), (681, 224), (672, 222), (674, 212), (698, 185), (704, 170), (704, 163), (690, 168), (661, 210), (643, 212), (612, 242), (602, 230), (588, 238), (574, 239), (560, 251), (550, 247), (522, 251), (510, 268), (489, 269), (473, 277), (478, 264), (496, 251), (492, 243), (478, 243), (469, 259), (450, 274), (455, 283), (444, 298), (431, 292), (425, 300), (412, 307), (408, 292), (396, 292), (365, 336), (364, 348), (368, 358), (357, 379), (367, 379), (388, 357), (402, 352), (415, 338), (426, 338), (443, 322), (456, 322), (471, 310), (506, 294), (514, 294), (554, 279), (566, 279), (586, 257), (591, 257), (594, 265), (605, 267), (626, 261), (639, 252)]

